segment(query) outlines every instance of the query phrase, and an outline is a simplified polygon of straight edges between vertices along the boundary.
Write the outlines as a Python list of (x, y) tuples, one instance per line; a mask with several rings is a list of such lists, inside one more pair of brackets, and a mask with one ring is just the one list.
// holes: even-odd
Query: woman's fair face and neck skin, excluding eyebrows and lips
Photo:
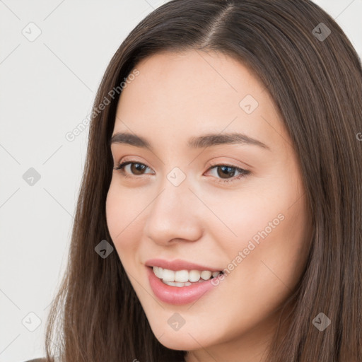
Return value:
[[(111, 147), (115, 165), (127, 156), (147, 166), (126, 166), (127, 178), (113, 171), (106, 214), (119, 258), (161, 344), (189, 351), (187, 362), (266, 361), (278, 308), (300, 279), (310, 245), (300, 167), (284, 122), (262, 83), (221, 53), (163, 52), (136, 69), (113, 134), (143, 136), (153, 151)], [(248, 94), (259, 103), (250, 114), (239, 105)], [(190, 137), (209, 132), (247, 134), (269, 149), (187, 146)], [(223, 174), (214, 165), (250, 174), (236, 179), (238, 170)], [(175, 167), (186, 176), (177, 187), (167, 178)], [(170, 305), (153, 294), (146, 260), (180, 258), (223, 270), (280, 214), (279, 225), (196, 302)], [(185, 320), (178, 330), (168, 325), (176, 312)]]

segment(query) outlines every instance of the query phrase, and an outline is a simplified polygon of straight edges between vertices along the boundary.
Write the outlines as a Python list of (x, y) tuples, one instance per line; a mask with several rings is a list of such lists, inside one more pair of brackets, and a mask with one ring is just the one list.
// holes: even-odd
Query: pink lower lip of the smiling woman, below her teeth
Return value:
[[(169, 286), (164, 284), (161, 279), (153, 273), (153, 269), (151, 267), (147, 267), (147, 269), (148, 280), (155, 296), (165, 303), (175, 305), (194, 302), (204, 296), (204, 294), (208, 291), (211, 291), (212, 288), (215, 288), (215, 285), (211, 284), (211, 281), (219, 279), (218, 283), (220, 283), (223, 280), (220, 276), (217, 276), (214, 279), (194, 283), (191, 286)], [(216, 286), (218, 286), (218, 284), (216, 284)]]

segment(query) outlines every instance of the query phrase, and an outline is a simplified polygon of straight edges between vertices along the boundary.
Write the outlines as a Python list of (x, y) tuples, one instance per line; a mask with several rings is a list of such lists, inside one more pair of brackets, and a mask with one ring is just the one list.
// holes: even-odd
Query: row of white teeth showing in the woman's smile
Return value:
[[(155, 275), (162, 279), (165, 284), (172, 286), (186, 286), (190, 285), (187, 282), (195, 283), (197, 281), (209, 280), (211, 276), (216, 278), (220, 271), (199, 271), (199, 270), (177, 270), (163, 269), (161, 267), (153, 267)], [(202, 279), (202, 280), (201, 280)], [(175, 285), (174, 285), (175, 284)], [(176, 285), (179, 284), (179, 285)], [(182, 284), (182, 285), (181, 285)]]

